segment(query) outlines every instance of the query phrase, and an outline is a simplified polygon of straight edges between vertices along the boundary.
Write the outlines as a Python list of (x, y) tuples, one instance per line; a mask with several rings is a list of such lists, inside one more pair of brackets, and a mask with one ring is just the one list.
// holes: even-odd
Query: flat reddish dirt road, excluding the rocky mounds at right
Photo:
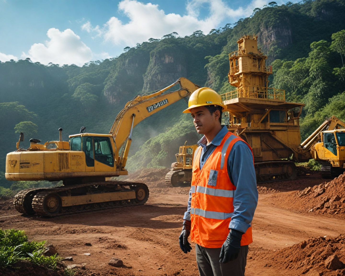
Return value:
[[(24, 216), (13, 207), (2, 208), (0, 227), (22, 229), (30, 239), (48, 240), (62, 257), (73, 257), (68, 264), (86, 264), (87, 269), (79, 270), (78, 275), (198, 275), (195, 250), (184, 254), (178, 245), (189, 188), (168, 188), (159, 174), (164, 171), (154, 173), (158, 180), (146, 179), (152, 181), (146, 182), (150, 198), (145, 205), (55, 218)], [(335, 237), (345, 232), (344, 219), (283, 204), (297, 190), (320, 183), (320, 175), (314, 173), (294, 181), (260, 185), (246, 275), (300, 275), (300, 269), (268, 265), (267, 256), (311, 237)], [(120, 258), (124, 265), (109, 266), (112, 257)], [(320, 275), (312, 273), (316, 270), (309, 269), (305, 275)], [(330, 270), (323, 275), (337, 275), (334, 273)]]

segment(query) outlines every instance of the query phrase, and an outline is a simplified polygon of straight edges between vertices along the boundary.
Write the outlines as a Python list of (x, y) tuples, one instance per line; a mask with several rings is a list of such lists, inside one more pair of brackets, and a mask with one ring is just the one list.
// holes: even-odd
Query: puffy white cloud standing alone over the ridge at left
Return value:
[(51, 28), (48, 30), (47, 36), (50, 40), (47, 40), (45, 44), (34, 43), (28, 53), (22, 53), (21, 58), (29, 57), (33, 62), (39, 61), (43, 64), (49, 62), (59, 65), (74, 63), (82, 66), (94, 57), (109, 57), (108, 53), (93, 54), (91, 49), (71, 29), (59, 31)]

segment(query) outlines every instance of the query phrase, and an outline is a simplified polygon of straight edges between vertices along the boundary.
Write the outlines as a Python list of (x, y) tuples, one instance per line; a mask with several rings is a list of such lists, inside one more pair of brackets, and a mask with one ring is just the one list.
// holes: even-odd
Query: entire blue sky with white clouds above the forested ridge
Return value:
[[(269, 0), (0, 0), (0, 60), (43, 64), (116, 57), (149, 38), (234, 23)], [(278, 4), (287, 1), (276, 0)], [(298, 2), (298, 1), (291, 1)]]

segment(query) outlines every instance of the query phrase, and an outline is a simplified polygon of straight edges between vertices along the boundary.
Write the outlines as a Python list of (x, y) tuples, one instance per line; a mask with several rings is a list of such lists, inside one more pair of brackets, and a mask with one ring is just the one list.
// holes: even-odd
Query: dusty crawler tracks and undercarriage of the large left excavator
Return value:
[[(129, 188), (126, 188), (128, 186)], [(32, 191), (35, 192), (31, 202), (32, 211), (28, 212), (28, 200), (20, 200), (20, 198), (24, 198)], [(55, 188), (27, 189), (21, 191), (17, 196), (18, 200), (14, 200), (14, 205), (20, 213), (52, 217), (91, 210), (142, 205), (149, 197), (149, 189), (144, 183), (104, 181)], [(85, 198), (90, 198), (88, 200), (90, 203), (77, 204), (78, 200), (85, 202)], [(98, 198), (98, 201), (95, 198)], [(105, 198), (117, 200), (106, 201)]]

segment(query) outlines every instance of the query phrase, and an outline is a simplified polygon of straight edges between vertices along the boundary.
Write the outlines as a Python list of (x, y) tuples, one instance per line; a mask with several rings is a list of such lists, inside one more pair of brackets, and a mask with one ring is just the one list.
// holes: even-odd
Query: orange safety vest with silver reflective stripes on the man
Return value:
[[(245, 142), (240, 137), (228, 132), (220, 145), (208, 157), (201, 170), (199, 162), (201, 147), (197, 149), (194, 157), (190, 235), (192, 242), (203, 247), (219, 248), (229, 234), (236, 187), (229, 178), (227, 160), (231, 148), (237, 141)], [(250, 148), (249, 145), (248, 147)], [(241, 245), (248, 245), (252, 242), (252, 226), (250, 226), (242, 235)]]

